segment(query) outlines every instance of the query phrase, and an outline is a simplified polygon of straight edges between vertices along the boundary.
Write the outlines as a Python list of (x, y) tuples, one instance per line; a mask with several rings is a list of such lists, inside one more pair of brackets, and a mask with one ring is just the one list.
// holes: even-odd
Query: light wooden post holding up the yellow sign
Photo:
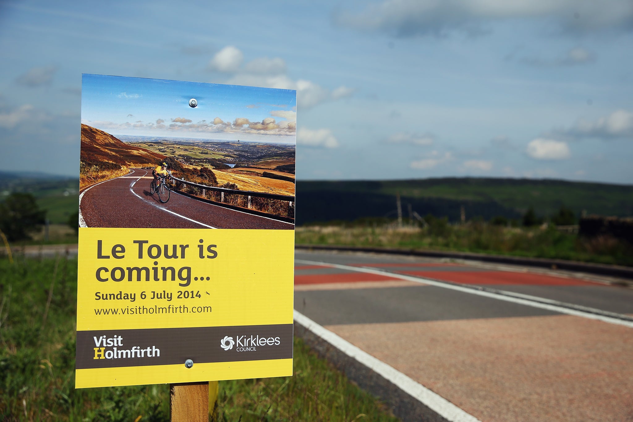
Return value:
[(171, 422), (208, 422), (208, 382), (170, 384), (169, 390)]

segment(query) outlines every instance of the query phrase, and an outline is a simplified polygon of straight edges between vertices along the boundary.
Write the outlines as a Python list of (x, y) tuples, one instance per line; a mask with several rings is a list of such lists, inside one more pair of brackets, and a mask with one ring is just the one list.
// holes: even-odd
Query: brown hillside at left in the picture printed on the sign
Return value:
[(144, 166), (156, 164), (162, 159), (165, 159), (163, 154), (125, 144), (110, 133), (81, 125), (81, 161), (84, 163), (106, 161), (120, 165)]

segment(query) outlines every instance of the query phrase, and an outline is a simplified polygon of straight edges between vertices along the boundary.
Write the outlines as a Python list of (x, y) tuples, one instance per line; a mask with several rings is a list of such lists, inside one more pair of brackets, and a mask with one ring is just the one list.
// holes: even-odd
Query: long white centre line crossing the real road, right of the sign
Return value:
[[(460, 285), (454, 285), (451, 283), (443, 283), (443, 282), (438, 282), (436, 280), (429, 280), (428, 278), (401, 275), (397, 273), (389, 273), (387, 271), (373, 270), (371, 268), (353, 267), (353, 266), (341, 265), (341, 264), (330, 264), (330, 263), (324, 263), (321, 261), (307, 261), (304, 259), (295, 259), (295, 262), (299, 264), (329, 266), (330, 268), (339, 268), (341, 270), (356, 271), (358, 273), (384, 275), (384, 276), (389, 276), (392, 278), (399, 278), (401, 280), (408, 280), (410, 282), (423, 283), (423, 284), (432, 285), (436, 287), (442, 287), (444, 289), (457, 290), (458, 292), (479, 295), (479, 296), (484, 296), (484, 297), (491, 297), (492, 299), (497, 299), (499, 301), (513, 302), (513, 303), (517, 303), (517, 304), (521, 304), (525, 306), (532, 306), (532, 307), (537, 307), (540, 309), (546, 309), (548, 311), (558, 312), (561, 314), (580, 316), (581, 318), (588, 318), (589, 320), (598, 320), (598, 321), (603, 321), (610, 324), (624, 325), (629, 328), (633, 328), (633, 321), (620, 320), (618, 318), (613, 318), (611, 316), (584, 312), (579, 309), (570, 309), (568, 307), (559, 306), (556, 304), (556, 301), (551, 301), (550, 299), (545, 299), (545, 298), (539, 298), (541, 299), (541, 301), (530, 301), (529, 299), (525, 299), (523, 297), (517, 297), (516, 295), (505, 295), (505, 294), (498, 294), (498, 293), (493, 293), (493, 292), (486, 292), (483, 290), (469, 289), (468, 287), (461, 287)], [(548, 302), (548, 303), (544, 303), (544, 302)], [(552, 302), (555, 302), (555, 303), (552, 303)], [(562, 302), (558, 302), (558, 303), (562, 304)]]

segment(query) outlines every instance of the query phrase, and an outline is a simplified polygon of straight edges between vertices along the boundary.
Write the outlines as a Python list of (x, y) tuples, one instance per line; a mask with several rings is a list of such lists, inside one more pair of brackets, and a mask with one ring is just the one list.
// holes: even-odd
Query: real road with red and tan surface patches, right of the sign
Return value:
[(534, 271), (297, 251), (295, 309), (481, 421), (633, 421), (633, 289)]

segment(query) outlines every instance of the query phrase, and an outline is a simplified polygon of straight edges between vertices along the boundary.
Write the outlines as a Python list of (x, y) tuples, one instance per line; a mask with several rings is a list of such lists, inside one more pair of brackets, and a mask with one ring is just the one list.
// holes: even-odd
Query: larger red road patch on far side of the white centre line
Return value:
[(544, 274), (512, 273), (510, 271), (398, 271), (401, 274), (435, 278), (461, 284), (527, 284), (544, 286), (579, 286), (595, 283)]

